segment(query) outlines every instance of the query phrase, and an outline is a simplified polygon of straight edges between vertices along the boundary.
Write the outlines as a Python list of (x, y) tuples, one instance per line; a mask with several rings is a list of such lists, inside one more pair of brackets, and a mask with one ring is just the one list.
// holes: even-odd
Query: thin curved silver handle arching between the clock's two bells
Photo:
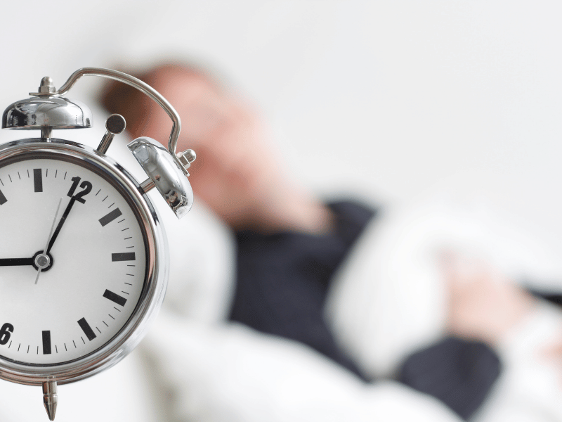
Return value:
[(176, 156), (176, 146), (178, 145), (178, 138), (180, 136), (181, 130), (181, 119), (180, 115), (174, 107), (160, 94), (156, 89), (150, 87), (150, 85), (145, 84), (145, 82), (141, 81), (141, 79), (137, 79), (136, 77), (132, 77), (131, 75), (127, 75), (124, 72), (119, 72), (117, 70), (112, 69), (105, 69), (105, 68), (81, 68), (76, 72), (72, 73), (67, 81), (63, 84), (58, 91), (50, 92), (50, 93), (38, 93), (38, 92), (30, 92), (30, 95), (33, 96), (62, 96), (65, 95), (70, 88), (74, 86), (74, 84), (80, 79), (80, 77), (84, 75), (92, 75), (92, 76), (100, 76), (100, 77), (107, 77), (109, 79), (114, 79), (119, 82), (124, 82), (125, 84), (131, 85), (138, 89), (139, 91), (143, 92), (150, 98), (152, 98), (156, 103), (164, 109), (164, 111), (169, 115), (172, 121), (172, 128), (170, 139), (168, 141), (168, 151), (170, 151), (174, 161), (181, 168), (185, 175), (188, 175), (188, 171), (183, 167), (181, 161)]

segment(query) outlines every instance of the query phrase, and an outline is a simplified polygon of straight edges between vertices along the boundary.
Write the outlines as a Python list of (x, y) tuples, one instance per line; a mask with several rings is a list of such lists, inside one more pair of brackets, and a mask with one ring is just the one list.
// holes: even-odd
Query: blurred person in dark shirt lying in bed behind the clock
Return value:
[[(194, 193), (235, 233), (230, 320), (303, 343), (374, 381), (336, 338), (325, 306), (334, 277), (367, 226), (377, 223), (379, 210), (355, 200), (325, 203), (291, 179), (258, 113), (206, 72), (174, 63), (137, 76), (178, 111), (178, 151), (197, 153), (190, 169)], [(167, 142), (169, 117), (143, 94), (111, 84), (102, 102), (126, 118), (133, 138)], [(535, 312), (537, 300), (489, 264), (450, 250), (438, 255), (448, 298), (445, 333), (405, 357), (394, 375), (469, 419), (502, 370), (499, 343)]]

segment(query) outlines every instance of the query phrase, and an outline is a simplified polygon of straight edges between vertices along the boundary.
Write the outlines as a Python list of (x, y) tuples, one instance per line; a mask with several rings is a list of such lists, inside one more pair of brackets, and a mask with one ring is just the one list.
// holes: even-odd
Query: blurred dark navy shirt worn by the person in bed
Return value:
[[(377, 211), (353, 202), (329, 207), (335, 224), (328, 234), (237, 233), (237, 286), (230, 319), (304, 343), (372, 381), (337, 345), (323, 309), (332, 276)], [(408, 358), (398, 380), (469, 418), (498, 375), (499, 359), (490, 347), (446, 338)]]

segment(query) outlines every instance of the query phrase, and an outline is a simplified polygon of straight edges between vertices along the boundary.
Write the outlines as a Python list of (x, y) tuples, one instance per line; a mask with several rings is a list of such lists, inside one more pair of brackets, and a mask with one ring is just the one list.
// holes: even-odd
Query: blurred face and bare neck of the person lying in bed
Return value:
[[(230, 227), (263, 232), (329, 231), (332, 213), (289, 177), (259, 113), (240, 96), (221, 89), (202, 72), (175, 66), (155, 69), (146, 82), (181, 116), (184, 124), (178, 148), (197, 153), (190, 167), (195, 195)], [(133, 137), (167, 142), (169, 117), (148, 98), (141, 101), (141, 109), (150, 109), (150, 113), (128, 122), (129, 131)]]

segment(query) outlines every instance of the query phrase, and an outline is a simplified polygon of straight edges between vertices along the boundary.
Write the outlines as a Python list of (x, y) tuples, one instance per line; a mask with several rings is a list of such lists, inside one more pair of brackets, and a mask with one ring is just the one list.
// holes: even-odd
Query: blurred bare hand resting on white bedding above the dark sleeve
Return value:
[(450, 299), (447, 328), (454, 335), (495, 345), (535, 304), (488, 264), (447, 252), (442, 266)]

